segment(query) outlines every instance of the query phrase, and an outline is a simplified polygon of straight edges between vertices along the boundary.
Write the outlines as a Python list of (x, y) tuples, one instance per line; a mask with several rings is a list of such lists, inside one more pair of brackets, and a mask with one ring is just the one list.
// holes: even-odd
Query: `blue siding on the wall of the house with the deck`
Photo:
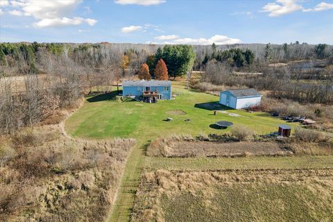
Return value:
[[(171, 86), (150, 86), (150, 91), (155, 91), (157, 88), (157, 93), (162, 94), (162, 99), (171, 99)], [(169, 89), (169, 90), (167, 90)], [(142, 96), (143, 92), (146, 91), (146, 87), (137, 86), (123, 86), (123, 96)]]

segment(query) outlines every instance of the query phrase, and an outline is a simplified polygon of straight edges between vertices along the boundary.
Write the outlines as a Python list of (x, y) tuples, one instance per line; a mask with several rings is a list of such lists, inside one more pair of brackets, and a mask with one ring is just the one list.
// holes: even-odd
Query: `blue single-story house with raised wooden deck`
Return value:
[(147, 103), (171, 99), (169, 80), (123, 80), (123, 96), (135, 97)]

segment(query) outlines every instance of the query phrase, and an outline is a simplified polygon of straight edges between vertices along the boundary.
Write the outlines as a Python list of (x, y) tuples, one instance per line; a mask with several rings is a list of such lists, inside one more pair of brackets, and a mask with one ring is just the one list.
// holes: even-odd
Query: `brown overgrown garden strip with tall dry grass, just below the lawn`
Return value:
[[(308, 131), (308, 130), (307, 130)], [(316, 135), (315, 132), (314, 134)], [(248, 134), (246, 134), (248, 135)], [(322, 135), (322, 133), (320, 133)], [(311, 139), (314, 138), (314, 139)], [(159, 137), (147, 148), (151, 157), (247, 157), (282, 155), (333, 155), (333, 143), (328, 137), (311, 136), (285, 139), (255, 139), (239, 141), (231, 135), (190, 135)]]

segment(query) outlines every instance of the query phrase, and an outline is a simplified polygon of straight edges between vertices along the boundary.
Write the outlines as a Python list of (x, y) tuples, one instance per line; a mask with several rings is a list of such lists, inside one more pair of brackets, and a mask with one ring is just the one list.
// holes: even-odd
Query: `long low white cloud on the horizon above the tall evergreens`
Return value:
[[(161, 35), (161, 36), (163, 36), (163, 35)], [(168, 36), (168, 35), (164, 35), (164, 36)], [(157, 37), (155, 37), (155, 39), (157, 39)], [(167, 40), (167, 39), (165, 39), (165, 40)], [(241, 43), (241, 40), (234, 39), (234, 38), (231, 38), (231, 37), (228, 37), (225, 35), (213, 35), (209, 39), (206, 39), (204, 37), (201, 37), (198, 39), (194, 39), (194, 38), (190, 38), (190, 37), (185, 37), (185, 38), (177, 37), (177, 38), (169, 39), (169, 41), (163, 42), (163, 44), (213, 44), (213, 42), (215, 44), (237, 44), (237, 43)]]

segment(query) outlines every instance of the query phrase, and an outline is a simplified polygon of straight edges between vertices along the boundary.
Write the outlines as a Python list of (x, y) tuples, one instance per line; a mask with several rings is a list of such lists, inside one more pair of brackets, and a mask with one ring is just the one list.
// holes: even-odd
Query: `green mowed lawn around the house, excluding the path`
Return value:
[[(175, 100), (159, 101), (155, 104), (137, 101), (119, 103), (110, 100), (111, 96), (102, 98), (107, 99), (105, 101), (87, 101), (83, 108), (80, 108), (66, 122), (66, 130), (71, 135), (78, 137), (131, 137), (146, 141), (173, 133), (198, 135), (199, 133), (228, 132), (230, 129), (219, 130), (210, 127), (219, 120), (232, 121), (234, 126), (244, 124), (258, 134), (276, 131), (278, 125), (284, 123), (284, 121), (269, 117), (262, 112), (225, 110), (226, 107), (217, 103), (218, 96), (187, 90), (181, 85), (173, 85), (173, 92), (178, 94)], [(214, 116), (214, 109), (239, 114), (239, 117), (221, 112)], [(186, 114), (167, 114), (167, 111), (170, 110), (182, 110)], [(166, 117), (172, 117), (173, 121), (163, 121)], [(184, 119), (191, 121), (186, 122)]]

